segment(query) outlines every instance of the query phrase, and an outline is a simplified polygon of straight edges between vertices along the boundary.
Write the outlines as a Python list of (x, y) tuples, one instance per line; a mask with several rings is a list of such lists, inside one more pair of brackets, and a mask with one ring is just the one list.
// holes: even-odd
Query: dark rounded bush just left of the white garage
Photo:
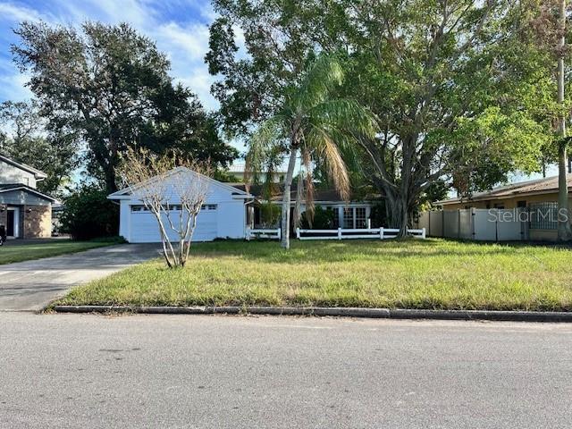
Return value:
[(114, 237), (119, 231), (119, 206), (95, 184), (81, 184), (64, 198), (62, 231), (74, 240)]

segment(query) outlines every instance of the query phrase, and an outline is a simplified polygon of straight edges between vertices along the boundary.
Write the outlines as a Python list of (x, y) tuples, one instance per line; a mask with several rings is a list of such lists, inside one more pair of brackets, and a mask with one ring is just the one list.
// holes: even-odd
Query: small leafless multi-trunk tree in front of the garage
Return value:
[(209, 173), (206, 166), (177, 154), (157, 156), (147, 149), (130, 148), (122, 157), (120, 177), (131, 195), (155, 216), (169, 267), (184, 266), (189, 259)]

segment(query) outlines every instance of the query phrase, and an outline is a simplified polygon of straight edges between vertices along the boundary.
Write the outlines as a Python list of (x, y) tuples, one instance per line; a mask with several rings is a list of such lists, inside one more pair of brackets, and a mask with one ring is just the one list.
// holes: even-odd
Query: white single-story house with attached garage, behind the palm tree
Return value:
[[(179, 167), (174, 174), (189, 172)], [(193, 172), (193, 174), (197, 174)], [(192, 175), (188, 175), (192, 180)], [(245, 189), (242, 183), (223, 183), (211, 178), (204, 178), (208, 182), (208, 191), (205, 204), (198, 214), (197, 227), (193, 241), (211, 241), (215, 239), (244, 239), (247, 228), (257, 228), (260, 224), (261, 205), (260, 187)], [(169, 189), (169, 185), (165, 189)], [(169, 190), (166, 194), (176, 195)], [(338, 222), (344, 228), (364, 228), (371, 211), (369, 202), (351, 202), (346, 204), (331, 191), (318, 191), (315, 196), (315, 205), (335, 210)], [(108, 196), (120, 205), (120, 235), (131, 243), (159, 242), (160, 235), (154, 215), (147, 210), (143, 202), (133, 195), (130, 189), (122, 189)], [(166, 199), (166, 198), (165, 198)], [(292, 206), (296, 199), (296, 191), (292, 191)], [(277, 194), (271, 198), (272, 204), (280, 205), (282, 195)], [(176, 210), (180, 201), (169, 199), (169, 206)], [(264, 225), (268, 227), (269, 225)], [(274, 225), (278, 227), (278, 224)]]

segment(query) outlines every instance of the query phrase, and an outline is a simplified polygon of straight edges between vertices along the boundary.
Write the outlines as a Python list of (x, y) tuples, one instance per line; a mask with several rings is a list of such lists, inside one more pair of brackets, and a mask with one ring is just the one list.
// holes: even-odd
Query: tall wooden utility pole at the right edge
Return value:
[[(559, 59), (558, 59), (558, 102), (564, 105), (564, 46), (566, 44), (566, 0), (559, 2), (559, 29), (562, 35), (559, 38)], [(572, 239), (570, 230), (570, 220), (568, 218), (568, 177), (566, 171), (566, 116), (559, 117), (559, 150), (558, 150), (558, 240), (568, 241)]]

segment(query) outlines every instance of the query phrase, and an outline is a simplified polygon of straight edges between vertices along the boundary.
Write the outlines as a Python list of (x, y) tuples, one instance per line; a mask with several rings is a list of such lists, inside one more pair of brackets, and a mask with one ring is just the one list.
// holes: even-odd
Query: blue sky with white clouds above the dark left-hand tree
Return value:
[(79, 25), (82, 21), (129, 22), (156, 41), (169, 55), (172, 77), (191, 88), (208, 109), (216, 108), (209, 93), (204, 56), (208, 48), (208, 24), (215, 13), (208, 0), (0, 0), (0, 101), (31, 97), (27, 76), (14, 66), (10, 46), (17, 42), (13, 29), (21, 21), (43, 20), (51, 24)]

